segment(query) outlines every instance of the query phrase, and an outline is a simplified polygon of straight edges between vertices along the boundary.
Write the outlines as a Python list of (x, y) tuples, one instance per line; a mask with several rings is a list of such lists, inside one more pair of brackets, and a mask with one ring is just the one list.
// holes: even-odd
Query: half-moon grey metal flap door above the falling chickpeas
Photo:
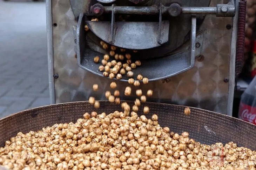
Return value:
[(151, 49), (168, 42), (169, 38), (169, 21), (162, 21), (161, 44), (158, 42), (158, 22), (115, 22), (113, 32), (111, 22), (86, 21), (86, 24), (104, 42), (124, 49)]

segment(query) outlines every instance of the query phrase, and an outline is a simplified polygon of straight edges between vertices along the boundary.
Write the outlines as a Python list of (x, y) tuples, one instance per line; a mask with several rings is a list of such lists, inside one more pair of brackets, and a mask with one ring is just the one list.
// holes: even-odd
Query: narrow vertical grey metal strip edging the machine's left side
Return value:
[(48, 54), (48, 78), (50, 91), (50, 104), (55, 103), (54, 67), (53, 67), (53, 24), (52, 24), (52, 1), (46, 0), (46, 24), (47, 24), (47, 54)]

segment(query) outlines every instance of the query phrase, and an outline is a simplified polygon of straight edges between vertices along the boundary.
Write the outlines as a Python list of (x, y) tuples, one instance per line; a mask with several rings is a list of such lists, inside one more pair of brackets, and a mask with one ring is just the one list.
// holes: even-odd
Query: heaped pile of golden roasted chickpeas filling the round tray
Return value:
[(0, 165), (8, 169), (59, 170), (242, 170), (255, 169), (256, 151), (205, 145), (136, 112), (85, 113), (75, 123), (55, 124), (23, 134), (0, 148)]

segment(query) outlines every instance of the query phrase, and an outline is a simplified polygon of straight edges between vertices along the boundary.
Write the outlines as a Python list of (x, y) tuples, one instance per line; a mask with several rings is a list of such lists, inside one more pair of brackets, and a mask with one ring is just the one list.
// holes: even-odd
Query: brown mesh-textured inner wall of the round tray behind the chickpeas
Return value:
[[(133, 101), (127, 103), (130, 106), (134, 104)], [(0, 119), (0, 146), (4, 146), (5, 141), (18, 132), (27, 133), (41, 130), (42, 127), (52, 126), (55, 123), (75, 122), (78, 118), (82, 118), (85, 112), (121, 111), (120, 105), (107, 101), (100, 101), (100, 105), (100, 108), (95, 110), (94, 106), (88, 102), (62, 103), (25, 110), (2, 118)], [(190, 138), (208, 145), (233, 141), (238, 146), (256, 150), (256, 126), (251, 123), (197, 108), (190, 108), (190, 116), (185, 116), (184, 106), (149, 102), (142, 103), (139, 114), (142, 113), (144, 105), (150, 108), (149, 114), (146, 115), (148, 118), (154, 113), (158, 114), (159, 124), (162, 127), (169, 127), (175, 133), (187, 131)]]

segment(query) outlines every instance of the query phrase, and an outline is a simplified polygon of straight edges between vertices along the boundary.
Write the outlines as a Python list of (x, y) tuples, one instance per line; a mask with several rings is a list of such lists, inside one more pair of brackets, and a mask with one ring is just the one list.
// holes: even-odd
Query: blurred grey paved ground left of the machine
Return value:
[(0, 117), (49, 104), (44, 2), (0, 0)]

